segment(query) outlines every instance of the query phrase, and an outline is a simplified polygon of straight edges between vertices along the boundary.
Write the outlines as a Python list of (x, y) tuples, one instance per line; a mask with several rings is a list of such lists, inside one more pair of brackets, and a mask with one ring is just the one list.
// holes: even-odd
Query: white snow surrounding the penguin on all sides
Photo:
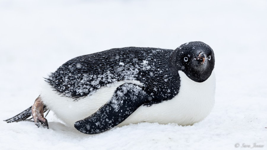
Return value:
[[(216, 102), (193, 126), (139, 123), (99, 135), (0, 121), (0, 149), (267, 149), (267, 1), (0, 0), (0, 119), (25, 110), (49, 72), (76, 56), (118, 47), (215, 53)], [(235, 148), (235, 144), (240, 146)]]

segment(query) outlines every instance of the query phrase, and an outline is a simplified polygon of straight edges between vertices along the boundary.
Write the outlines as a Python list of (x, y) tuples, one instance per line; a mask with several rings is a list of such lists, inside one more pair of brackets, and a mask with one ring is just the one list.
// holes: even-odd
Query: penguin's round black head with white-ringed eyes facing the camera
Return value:
[(171, 56), (175, 70), (183, 71), (195, 82), (204, 82), (212, 74), (214, 52), (203, 42), (188, 42), (174, 50)]

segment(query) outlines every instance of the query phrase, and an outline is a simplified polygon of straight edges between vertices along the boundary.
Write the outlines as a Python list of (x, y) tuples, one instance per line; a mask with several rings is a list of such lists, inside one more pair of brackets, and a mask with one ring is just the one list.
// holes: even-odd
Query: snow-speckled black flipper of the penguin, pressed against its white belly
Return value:
[(125, 83), (117, 87), (112, 98), (95, 113), (74, 123), (82, 133), (98, 134), (123, 122), (139, 106), (148, 100), (142, 87)]

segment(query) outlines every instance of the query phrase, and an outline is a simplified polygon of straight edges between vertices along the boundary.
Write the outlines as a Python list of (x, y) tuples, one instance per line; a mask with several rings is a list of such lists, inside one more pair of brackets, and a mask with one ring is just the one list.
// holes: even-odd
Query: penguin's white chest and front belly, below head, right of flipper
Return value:
[(141, 106), (118, 126), (138, 122), (158, 122), (159, 124), (177, 123), (193, 125), (200, 122), (211, 112), (215, 101), (215, 73), (204, 82), (195, 82), (179, 71), (181, 86), (173, 99)]

